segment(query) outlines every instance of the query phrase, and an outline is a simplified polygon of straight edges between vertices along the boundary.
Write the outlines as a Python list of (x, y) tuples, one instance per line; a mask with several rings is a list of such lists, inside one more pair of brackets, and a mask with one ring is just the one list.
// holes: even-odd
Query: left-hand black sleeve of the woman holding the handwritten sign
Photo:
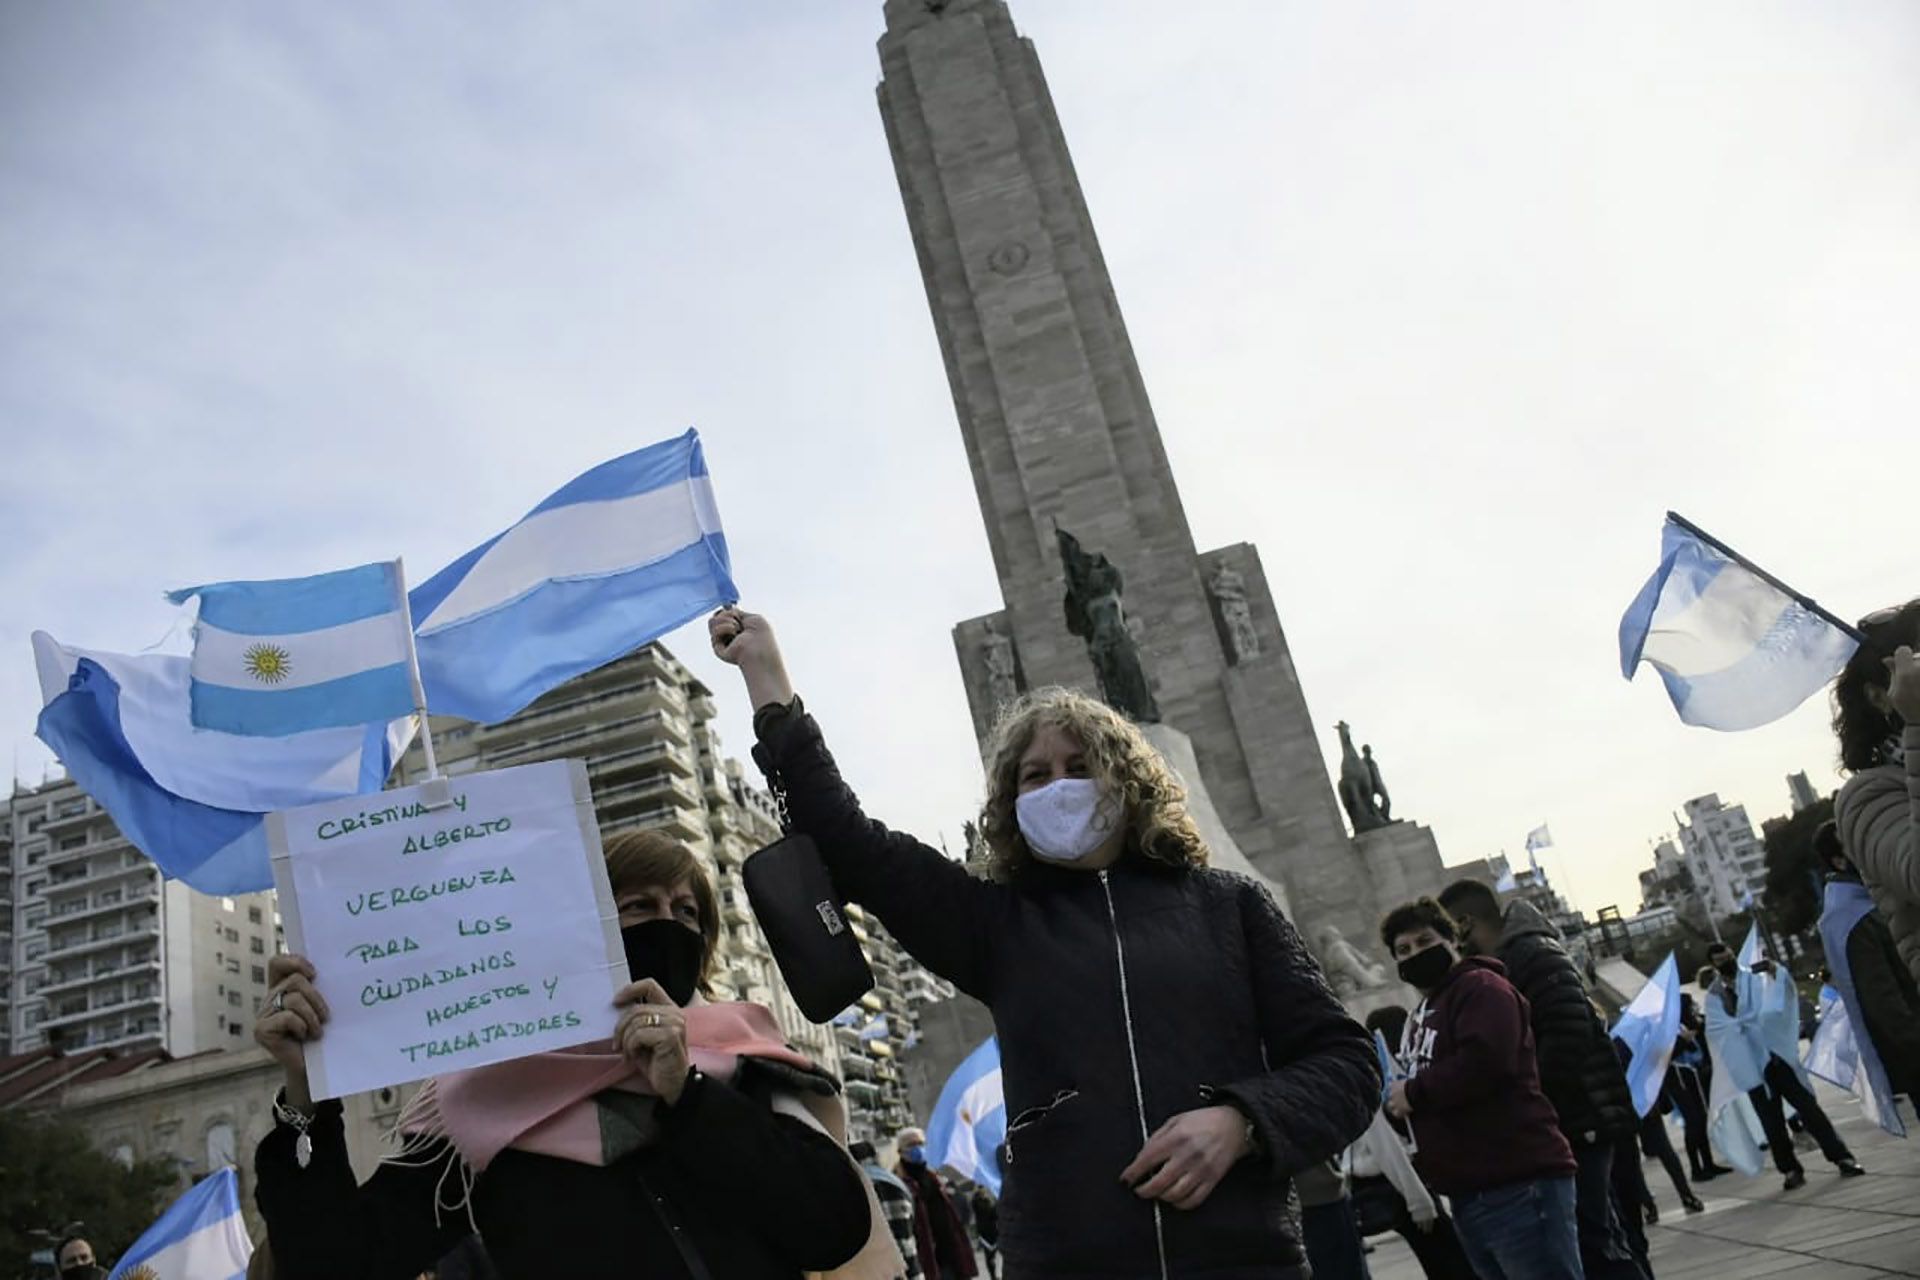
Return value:
[(298, 1132), (275, 1125), (253, 1153), (253, 1199), (267, 1219), (282, 1280), (413, 1280), (472, 1232), (465, 1211), (440, 1213), (434, 1196), (453, 1150), (442, 1144), (405, 1167), (382, 1163), (353, 1182), (340, 1102), (315, 1109), (313, 1159), (294, 1159)]

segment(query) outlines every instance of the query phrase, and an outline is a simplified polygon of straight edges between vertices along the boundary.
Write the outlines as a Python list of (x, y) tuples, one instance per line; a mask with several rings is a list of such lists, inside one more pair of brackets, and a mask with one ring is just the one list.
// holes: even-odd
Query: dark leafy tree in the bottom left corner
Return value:
[(23, 1276), (46, 1232), (84, 1222), (102, 1267), (140, 1238), (179, 1186), (173, 1161), (132, 1169), (102, 1155), (58, 1115), (0, 1111), (0, 1276)]

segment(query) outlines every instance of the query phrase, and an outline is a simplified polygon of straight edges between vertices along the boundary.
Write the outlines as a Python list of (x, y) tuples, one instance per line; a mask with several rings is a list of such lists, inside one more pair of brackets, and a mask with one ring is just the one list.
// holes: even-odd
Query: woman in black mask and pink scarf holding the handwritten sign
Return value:
[(703, 1000), (720, 912), (699, 862), (624, 833), (607, 877), (636, 979), (612, 1042), (428, 1080), (401, 1151), (361, 1186), (342, 1105), (307, 1090), (305, 1044), (328, 1019), (313, 965), (275, 958), (253, 1038), (286, 1092), (255, 1169), (282, 1280), (411, 1280), (472, 1230), (509, 1280), (793, 1280), (856, 1255), (845, 1274), (895, 1274), (866, 1178), (829, 1136), (837, 1084), (764, 1007)]

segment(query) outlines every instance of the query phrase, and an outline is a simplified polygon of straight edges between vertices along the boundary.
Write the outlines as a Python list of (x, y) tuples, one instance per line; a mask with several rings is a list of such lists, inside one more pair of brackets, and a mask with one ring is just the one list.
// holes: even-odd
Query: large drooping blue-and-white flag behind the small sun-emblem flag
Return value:
[(36, 733), (132, 844), (207, 894), (273, 889), (261, 816), (380, 791), (413, 718), (282, 739), (192, 723), (190, 662), (33, 633)]

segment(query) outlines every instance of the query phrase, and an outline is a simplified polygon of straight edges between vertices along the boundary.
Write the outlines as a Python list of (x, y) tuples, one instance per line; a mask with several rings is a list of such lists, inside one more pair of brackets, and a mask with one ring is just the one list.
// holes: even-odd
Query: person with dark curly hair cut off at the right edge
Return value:
[(1860, 647), (1834, 681), (1839, 842), (1920, 983), (1920, 601), (1860, 620)]

